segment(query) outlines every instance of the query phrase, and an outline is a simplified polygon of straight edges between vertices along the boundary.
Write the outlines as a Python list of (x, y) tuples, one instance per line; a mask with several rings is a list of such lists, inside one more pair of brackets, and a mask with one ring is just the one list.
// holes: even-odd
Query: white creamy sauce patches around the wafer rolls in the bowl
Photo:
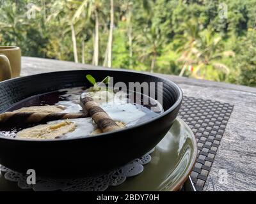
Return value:
[[(77, 113), (82, 111), (82, 107), (79, 105), (79, 98), (83, 90), (81, 87), (71, 88), (71, 89), (61, 89), (60, 91), (67, 91), (61, 97), (67, 98), (67, 101), (60, 101), (56, 105), (65, 106), (65, 113)], [(111, 119), (125, 122), (125, 126), (134, 126), (141, 117), (146, 115), (145, 112), (140, 110), (136, 105), (133, 105), (127, 101), (126, 98), (113, 98), (107, 102), (101, 103), (100, 107), (108, 113)], [(96, 128), (97, 125), (93, 122), (92, 118), (86, 119), (70, 119), (71, 122), (74, 122), (77, 126), (76, 130), (72, 133), (67, 133), (65, 137), (79, 137), (90, 135)], [(49, 124), (61, 122), (61, 120), (48, 122)]]

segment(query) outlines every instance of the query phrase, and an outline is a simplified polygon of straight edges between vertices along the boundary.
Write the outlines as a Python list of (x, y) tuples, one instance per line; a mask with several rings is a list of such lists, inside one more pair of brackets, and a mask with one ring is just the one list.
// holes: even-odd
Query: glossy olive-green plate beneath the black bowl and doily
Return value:
[(178, 118), (151, 154), (152, 160), (143, 172), (109, 191), (177, 191), (188, 179), (196, 154), (195, 136)]

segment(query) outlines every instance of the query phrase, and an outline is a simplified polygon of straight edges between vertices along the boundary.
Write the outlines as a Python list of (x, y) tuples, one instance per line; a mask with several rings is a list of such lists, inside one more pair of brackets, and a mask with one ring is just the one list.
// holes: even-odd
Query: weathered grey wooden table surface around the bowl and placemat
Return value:
[[(21, 75), (95, 68), (88, 64), (22, 57)], [(177, 83), (186, 96), (234, 105), (204, 191), (256, 191), (256, 88), (173, 75), (161, 76)]]

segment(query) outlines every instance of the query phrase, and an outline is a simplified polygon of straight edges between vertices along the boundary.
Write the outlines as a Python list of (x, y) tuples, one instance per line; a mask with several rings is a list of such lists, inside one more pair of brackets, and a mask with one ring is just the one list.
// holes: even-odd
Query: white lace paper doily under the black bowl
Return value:
[(151, 161), (150, 154), (135, 159), (129, 164), (114, 171), (99, 175), (97, 177), (86, 177), (82, 179), (45, 179), (36, 177), (36, 184), (27, 184), (28, 175), (10, 170), (1, 166), (0, 170), (5, 172), (4, 178), (12, 182), (17, 182), (21, 189), (33, 189), (34, 191), (105, 191), (109, 186), (118, 186), (125, 182), (127, 177), (133, 177), (143, 171), (143, 165)]

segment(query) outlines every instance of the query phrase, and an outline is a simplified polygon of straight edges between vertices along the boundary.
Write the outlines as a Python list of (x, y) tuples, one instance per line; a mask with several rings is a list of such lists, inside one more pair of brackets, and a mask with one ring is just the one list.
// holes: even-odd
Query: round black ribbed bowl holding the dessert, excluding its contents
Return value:
[[(113, 69), (58, 71), (19, 77), (0, 83), (0, 112), (14, 103), (35, 94), (56, 91), (66, 87), (89, 85), (86, 75), (97, 81), (106, 76), (115, 82), (163, 82), (164, 112), (131, 128), (97, 136), (58, 139), (22, 140), (0, 136), (0, 164), (20, 171), (36, 170), (37, 175), (68, 177), (92, 175), (112, 170), (146, 154), (166, 135), (177, 117), (182, 102), (181, 89), (164, 78)], [(156, 94), (156, 98), (157, 98)]]

